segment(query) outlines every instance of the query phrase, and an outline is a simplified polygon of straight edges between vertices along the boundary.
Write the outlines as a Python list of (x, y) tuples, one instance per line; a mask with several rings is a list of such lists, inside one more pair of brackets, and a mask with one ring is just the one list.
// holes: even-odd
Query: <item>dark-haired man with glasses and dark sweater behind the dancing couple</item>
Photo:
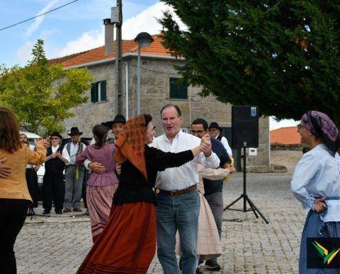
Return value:
[[(205, 134), (209, 134), (207, 121), (204, 119), (196, 119), (191, 124), (191, 134), (202, 138)], [(211, 137), (212, 151), (216, 153), (220, 159), (220, 167), (223, 169), (230, 169), (231, 173), (235, 172), (233, 166), (230, 165), (231, 160), (229, 155), (223, 147), (222, 142), (216, 138)], [(214, 215), (215, 223), (218, 229), (218, 236), (222, 234), (222, 217), (223, 217), (223, 180), (209, 180), (203, 179), (204, 184), (204, 197), (207, 199), (209, 206)], [(207, 269), (212, 271), (218, 271), (221, 269), (216, 258), (212, 258), (205, 262)]]

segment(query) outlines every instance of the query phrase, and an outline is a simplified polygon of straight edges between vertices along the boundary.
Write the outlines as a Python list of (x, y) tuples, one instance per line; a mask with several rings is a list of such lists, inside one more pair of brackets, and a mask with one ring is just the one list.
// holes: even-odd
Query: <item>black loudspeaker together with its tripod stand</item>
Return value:
[[(257, 105), (233, 105), (231, 106), (231, 147), (243, 148), (243, 193), (224, 208), (225, 210), (236, 210), (242, 212), (252, 211), (256, 218), (258, 214), (266, 222), (266, 218), (262, 215), (260, 210), (254, 205), (247, 195), (247, 147), (258, 147), (258, 106)], [(238, 210), (231, 208), (236, 202), (243, 199), (243, 209)], [(250, 208), (247, 209), (247, 203)]]

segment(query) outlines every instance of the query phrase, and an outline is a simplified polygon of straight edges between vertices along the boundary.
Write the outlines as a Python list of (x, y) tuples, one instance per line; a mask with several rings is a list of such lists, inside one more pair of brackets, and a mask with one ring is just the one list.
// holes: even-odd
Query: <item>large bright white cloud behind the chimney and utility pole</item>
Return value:
[[(161, 25), (157, 22), (157, 18), (162, 16), (162, 12), (165, 10), (172, 10), (168, 5), (164, 3), (156, 3), (149, 8), (139, 13), (137, 16), (129, 18), (123, 22), (122, 38), (133, 39), (139, 32), (148, 32), (149, 34), (159, 34), (161, 31)], [(182, 29), (185, 25), (179, 21), (177, 16), (174, 16), (175, 20), (179, 23)], [(58, 54), (54, 57), (61, 57), (80, 51), (86, 51), (95, 47), (104, 45), (104, 26), (100, 29), (84, 32), (76, 40), (67, 42), (66, 46), (58, 51)]]

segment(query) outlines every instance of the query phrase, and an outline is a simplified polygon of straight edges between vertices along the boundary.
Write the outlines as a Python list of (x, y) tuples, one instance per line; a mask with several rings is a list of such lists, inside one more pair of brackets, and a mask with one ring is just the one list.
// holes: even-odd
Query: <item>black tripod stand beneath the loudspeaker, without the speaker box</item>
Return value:
[[(262, 219), (266, 223), (269, 223), (269, 221), (267, 221), (267, 219), (264, 218), (264, 216), (262, 215), (260, 210), (258, 210), (258, 208), (256, 208), (256, 206), (253, 204), (253, 202), (251, 201), (251, 199), (247, 195), (247, 177), (246, 177), (246, 174), (247, 174), (247, 170), (246, 170), (247, 155), (246, 155), (246, 147), (247, 147), (246, 145), (243, 146), (243, 156), (242, 156), (243, 157), (243, 193), (240, 195), (240, 197), (238, 197), (238, 199), (236, 199), (235, 201), (230, 203), (228, 206), (226, 206), (223, 209), (223, 211), (225, 211), (225, 210), (236, 210), (236, 211), (242, 211), (242, 212), (252, 211), (255, 214), (256, 218), (258, 218), (258, 214), (260, 214)], [(234, 208), (230, 208), (231, 206), (234, 205), (234, 203), (238, 202), (242, 198), (243, 198), (243, 210), (237, 210), (237, 209), (234, 209)], [(249, 209), (247, 209), (247, 202), (249, 203), (249, 206), (250, 206)]]

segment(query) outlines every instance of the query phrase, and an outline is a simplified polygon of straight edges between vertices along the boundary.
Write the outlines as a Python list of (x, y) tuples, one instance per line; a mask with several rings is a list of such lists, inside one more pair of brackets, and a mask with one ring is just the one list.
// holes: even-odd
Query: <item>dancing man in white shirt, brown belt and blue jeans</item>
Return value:
[[(181, 131), (181, 110), (177, 105), (165, 105), (161, 110), (165, 134), (155, 138), (152, 147), (162, 151), (180, 152), (197, 147), (201, 139)], [(174, 252), (179, 231), (182, 251), (182, 273), (196, 273), (196, 243), (199, 219), (199, 182), (197, 164), (218, 168), (220, 160), (212, 152), (209, 136), (203, 153), (183, 166), (166, 169), (157, 175), (157, 256), (165, 274), (178, 274)]]

